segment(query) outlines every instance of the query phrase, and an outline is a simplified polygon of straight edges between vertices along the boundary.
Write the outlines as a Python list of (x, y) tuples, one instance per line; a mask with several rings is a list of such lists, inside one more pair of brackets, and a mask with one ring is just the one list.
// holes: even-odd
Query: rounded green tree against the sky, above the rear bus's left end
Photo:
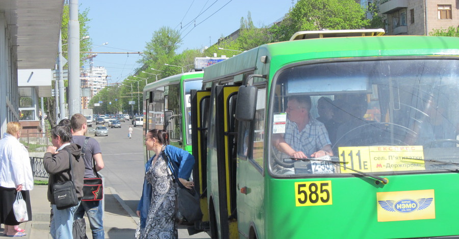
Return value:
[(179, 31), (162, 26), (158, 31), (153, 33), (151, 41), (145, 45), (145, 50), (139, 63), (144, 66), (158, 65), (166, 63), (166, 59), (175, 55), (182, 43)]

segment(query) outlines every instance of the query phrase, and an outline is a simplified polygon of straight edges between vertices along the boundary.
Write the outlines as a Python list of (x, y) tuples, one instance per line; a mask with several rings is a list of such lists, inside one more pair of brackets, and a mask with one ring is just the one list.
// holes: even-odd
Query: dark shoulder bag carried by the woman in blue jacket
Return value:
[[(172, 174), (172, 180), (174, 180), (175, 175), (179, 175), (178, 173), (174, 173), (174, 168), (170, 163), (169, 156), (164, 153), (164, 160), (169, 167), (170, 174)], [(195, 188), (187, 189), (185, 186), (180, 183), (179, 178), (175, 180), (179, 184), (179, 190), (177, 192), (176, 197), (176, 208), (177, 211), (175, 212), (176, 219), (179, 222), (188, 221), (189, 223), (193, 223), (195, 221), (199, 221), (202, 218), (201, 212), (201, 205), (200, 205), (200, 197), (199, 193), (196, 192)], [(186, 219), (186, 220), (184, 220)]]

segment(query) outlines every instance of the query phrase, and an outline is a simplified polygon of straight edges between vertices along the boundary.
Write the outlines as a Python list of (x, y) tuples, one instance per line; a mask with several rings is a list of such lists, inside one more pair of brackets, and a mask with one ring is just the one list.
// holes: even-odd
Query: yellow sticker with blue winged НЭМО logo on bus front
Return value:
[(435, 191), (376, 193), (378, 222), (435, 219)]

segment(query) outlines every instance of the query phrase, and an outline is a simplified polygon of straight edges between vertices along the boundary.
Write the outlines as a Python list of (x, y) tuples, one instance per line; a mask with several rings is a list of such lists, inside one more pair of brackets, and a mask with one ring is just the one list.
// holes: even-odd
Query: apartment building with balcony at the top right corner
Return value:
[(380, 0), (386, 35), (424, 35), (459, 26), (458, 0)]

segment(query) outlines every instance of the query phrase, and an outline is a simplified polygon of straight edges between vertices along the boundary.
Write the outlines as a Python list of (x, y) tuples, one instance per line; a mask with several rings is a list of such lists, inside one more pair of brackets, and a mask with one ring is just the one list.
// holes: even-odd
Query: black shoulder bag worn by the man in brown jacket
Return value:
[[(66, 151), (66, 150), (65, 150)], [(77, 196), (77, 189), (73, 184), (73, 169), (72, 169), (72, 161), (70, 152), (68, 152), (68, 163), (70, 165), (70, 178), (71, 180), (56, 183), (53, 186), (53, 197), (54, 203), (59, 210), (63, 210), (65, 208), (69, 208), (72, 206), (78, 205), (78, 196)]]

